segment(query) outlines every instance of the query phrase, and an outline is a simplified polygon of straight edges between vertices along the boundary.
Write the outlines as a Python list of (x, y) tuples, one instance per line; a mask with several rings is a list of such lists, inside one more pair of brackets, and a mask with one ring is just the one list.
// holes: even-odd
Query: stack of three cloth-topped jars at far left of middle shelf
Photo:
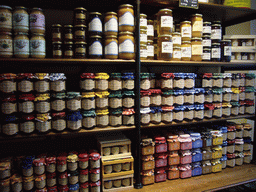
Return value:
[(16, 135), (19, 132), (17, 106), (17, 75), (5, 73), (0, 76), (1, 84), (1, 120), (4, 135)]

